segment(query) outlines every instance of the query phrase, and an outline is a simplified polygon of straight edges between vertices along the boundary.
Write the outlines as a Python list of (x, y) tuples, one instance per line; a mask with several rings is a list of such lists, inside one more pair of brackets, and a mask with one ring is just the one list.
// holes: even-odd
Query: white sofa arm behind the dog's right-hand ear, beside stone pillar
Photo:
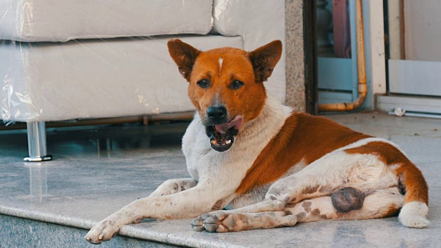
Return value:
[[(245, 50), (254, 50), (277, 39), (285, 46), (285, 0), (214, 0), (213, 8), (214, 32), (242, 37)], [(285, 47), (265, 85), (285, 103)]]

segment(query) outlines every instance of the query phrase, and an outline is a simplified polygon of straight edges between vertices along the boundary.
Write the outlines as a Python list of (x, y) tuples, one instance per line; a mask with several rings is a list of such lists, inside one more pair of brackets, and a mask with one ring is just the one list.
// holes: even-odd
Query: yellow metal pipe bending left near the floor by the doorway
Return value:
[(367, 94), (365, 61), (365, 28), (363, 25), (362, 0), (356, 0), (358, 99), (353, 103), (329, 103), (318, 105), (318, 112), (356, 110), (365, 103)]

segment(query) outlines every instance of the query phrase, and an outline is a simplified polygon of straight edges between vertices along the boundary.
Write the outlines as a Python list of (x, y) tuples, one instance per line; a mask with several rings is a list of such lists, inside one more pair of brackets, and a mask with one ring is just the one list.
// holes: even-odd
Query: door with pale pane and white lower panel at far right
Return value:
[(440, 13), (439, 0), (387, 1), (391, 94), (441, 96)]

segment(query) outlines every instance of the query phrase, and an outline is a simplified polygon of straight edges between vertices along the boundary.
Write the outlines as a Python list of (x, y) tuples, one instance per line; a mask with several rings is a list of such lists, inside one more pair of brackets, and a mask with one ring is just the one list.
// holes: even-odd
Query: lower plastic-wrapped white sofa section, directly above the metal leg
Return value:
[[(5, 121), (63, 121), (194, 110), (170, 57), (174, 37), (0, 45)], [(240, 37), (177, 37), (200, 50), (243, 48)]]

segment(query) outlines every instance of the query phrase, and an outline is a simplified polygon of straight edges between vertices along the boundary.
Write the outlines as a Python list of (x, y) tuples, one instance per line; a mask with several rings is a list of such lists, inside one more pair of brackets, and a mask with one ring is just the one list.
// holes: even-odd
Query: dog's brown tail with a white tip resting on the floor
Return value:
[(400, 178), (400, 188), (405, 192), (404, 205), (398, 216), (400, 223), (413, 228), (427, 227), (429, 187), (420, 169), (407, 161), (396, 172)]

